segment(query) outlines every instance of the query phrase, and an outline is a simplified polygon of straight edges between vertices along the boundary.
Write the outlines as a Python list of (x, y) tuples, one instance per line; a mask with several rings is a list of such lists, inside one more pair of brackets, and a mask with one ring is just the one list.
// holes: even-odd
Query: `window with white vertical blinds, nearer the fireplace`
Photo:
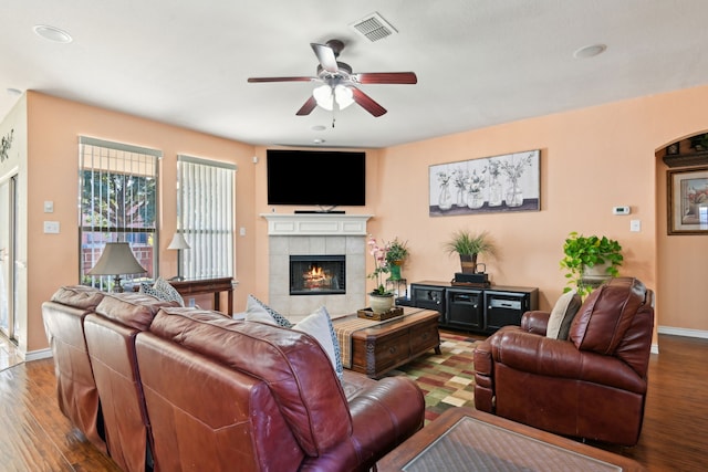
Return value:
[(233, 276), (236, 165), (177, 156), (177, 230), (186, 279)]

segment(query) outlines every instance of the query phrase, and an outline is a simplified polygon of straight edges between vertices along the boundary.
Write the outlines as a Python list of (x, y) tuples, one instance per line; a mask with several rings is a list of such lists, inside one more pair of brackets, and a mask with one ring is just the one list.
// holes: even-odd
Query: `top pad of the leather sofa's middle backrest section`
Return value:
[(96, 313), (126, 326), (145, 331), (149, 328), (157, 312), (165, 306), (178, 306), (178, 303), (145, 293), (107, 293), (96, 307)]

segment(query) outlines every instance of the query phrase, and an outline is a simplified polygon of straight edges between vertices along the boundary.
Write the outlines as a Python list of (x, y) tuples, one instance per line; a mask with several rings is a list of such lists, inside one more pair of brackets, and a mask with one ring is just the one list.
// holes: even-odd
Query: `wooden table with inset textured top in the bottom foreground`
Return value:
[(638, 462), (471, 408), (450, 408), (389, 452), (378, 472), (646, 471)]

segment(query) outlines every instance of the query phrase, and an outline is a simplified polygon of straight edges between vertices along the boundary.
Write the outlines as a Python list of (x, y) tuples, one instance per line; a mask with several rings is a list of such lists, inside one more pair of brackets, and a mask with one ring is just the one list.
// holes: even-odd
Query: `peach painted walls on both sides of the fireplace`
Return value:
[[(367, 153), (367, 207), (347, 212), (371, 213), (368, 229), (381, 239), (408, 240), (412, 258), (404, 276), (447, 281), (459, 262), (442, 250), (459, 228), (488, 230), (500, 245), (498, 260), (487, 262), (496, 284), (538, 286), (540, 305), (550, 308), (565, 280), (559, 269), (570, 231), (598, 233), (624, 247), (622, 274), (635, 275), (657, 294), (662, 326), (708, 331), (706, 237), (666, 237), (665, 170), (655, 153), (680, 137), (708, 129), (704, 104), (708, 87), (643, 97), (582, 111), (470, 130), (420, 143)], [(86, 135), (162, 149), (160, 227), (175, 229), (176, 155), (236, 162), (237, 237), (236, 310), (248, 293), (267, 300), (268, 231), (260, 213), (266, 201), (266, 147), (158, 124), (134, 116), (28, 95), (29, 108), (29, 348), (46, 346), (40, 305), (61, 284), (77, 280), (76, 175), (77, 136)], [(388, 117), (393, 119), (392, 117)], [(541, 149), (541, 211), (480, 216), (428, 216), (428, 166)], [(252, 157), (259, 158), (252, 162)], [(52, 220), (60, 234), (43, 234), (42, 202), (53, 200)], [(612, 214), (614, 206), (632, 214)], [(278, 207), (278, 212), (293, 208)], [(642, 221), (641, 232), (629, 220)], [(176, 272), (176, 255), (160, 241), (160, 270)], [(701, 259), (702, 258), (702, 259)], [(369, 258), (371, 259), (371, 258)], [(371, 265), (371, 261), (367, 261)], [(371, 268), (369, 268), (371, 269)], [(371, 283), (371, 282), (369, 282)]]

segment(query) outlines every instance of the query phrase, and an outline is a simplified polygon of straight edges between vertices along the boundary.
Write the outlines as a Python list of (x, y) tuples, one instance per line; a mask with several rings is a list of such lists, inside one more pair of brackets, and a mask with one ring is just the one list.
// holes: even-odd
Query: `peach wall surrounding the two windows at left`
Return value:
[[(233, 140), (168, 126), (135, 116), (69, 102), (35, 92), (28, 93), (29, 201), (28, 201), (28, 350), (45, 348), (41, 304), (64, 284), (79, 282), (77, 175), (79, 136), (91, 136), (163, 151), (160, 160), (160, 274), (177, 273), (176, 251), (166, 250), (176, 228), (177, 154), (233, 162), (237, 204), (236, 227), (247, 229), (236, 239), (235, 306), (246, 304), (254, 290), (251, 276), (256, 259), (251, 248), (256, 233), (253, 147)], [(54, 213), (43, 213), (43, 202), (54, 202)], [(43, 221), (61, 224), (60, 234), (44, 234)]]

